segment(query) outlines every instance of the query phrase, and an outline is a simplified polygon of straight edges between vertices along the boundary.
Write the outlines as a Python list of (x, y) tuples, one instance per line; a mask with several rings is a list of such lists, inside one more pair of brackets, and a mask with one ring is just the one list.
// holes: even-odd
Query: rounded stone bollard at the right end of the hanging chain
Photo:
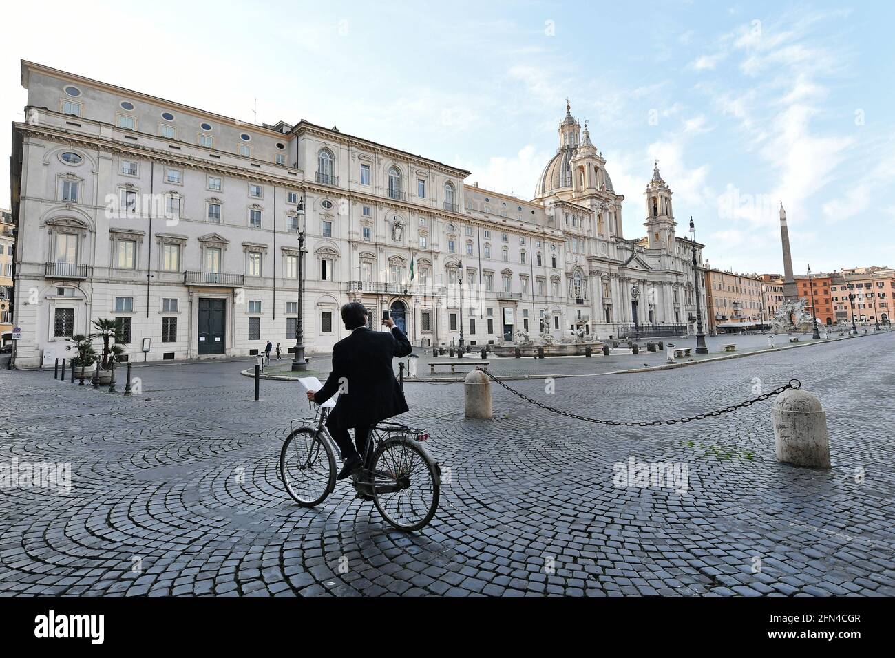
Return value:
[(777, 461), (830, 468), (830, 435), (821, 401), (801, 389), (788, 389), (771, 407)]

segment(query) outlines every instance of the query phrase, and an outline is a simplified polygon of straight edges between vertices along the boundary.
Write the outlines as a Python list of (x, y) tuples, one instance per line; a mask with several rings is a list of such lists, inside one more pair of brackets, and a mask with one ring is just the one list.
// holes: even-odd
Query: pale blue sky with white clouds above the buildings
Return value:
[(248, 121), (257, 102), (259, 122), (337, 125), (528, 199), (568, 97), (627, 237), (658, 159), (714, 267), (780, 271), (780, 201), (797, 272), (895, 266), (891, 3), (40, 6), (65, 20), (4, 8), (25, 26), (0, 42), (10, 121), (24, 58)]

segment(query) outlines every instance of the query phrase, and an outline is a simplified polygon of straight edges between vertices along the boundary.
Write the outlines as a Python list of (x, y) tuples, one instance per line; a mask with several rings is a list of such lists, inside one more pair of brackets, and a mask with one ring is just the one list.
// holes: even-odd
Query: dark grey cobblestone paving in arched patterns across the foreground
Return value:
[[(0, 491), (0, 592), (895, 594), (895, 334), (556, 380), (554, 395), (543, 381), (513, 382), (575, 413), (654, 420), (795, 377), (829, 415), (829, 472), (775, 461), (770, 402), (617, 428), (495, 387), (495, 419), (465, 422), (462, 386), (409, 384), (406, 422), (430, 429), (430, 453), (450, 473), (438, 515), (415, 534), (391, 529), (347, 483), (298, 508), (277, 456), (307, 407), (293, 382), (273, 380), (253, 402), (244, 367), (134, 369), (142, 391), (131, 398), (51, 372), (0, 372), (0, 464), (72, 466), (67, 495)], [(631, 457), (686, 464), (686, 491), (616, 486), (613, 466)]]

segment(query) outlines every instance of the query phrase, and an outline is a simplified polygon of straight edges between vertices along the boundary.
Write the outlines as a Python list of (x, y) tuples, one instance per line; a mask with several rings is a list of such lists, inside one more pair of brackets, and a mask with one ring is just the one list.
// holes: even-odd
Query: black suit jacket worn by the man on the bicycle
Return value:
[(349, 429), (404, 414), (407, 402), (395, 378), (392, 358), (412, 351), (410, 341), (397, 327), (390, 333), (362, 327), (337, 342), (333, 370), (314, 396), (314, 401), (322, 405), (342, 388), (327, 424)]

